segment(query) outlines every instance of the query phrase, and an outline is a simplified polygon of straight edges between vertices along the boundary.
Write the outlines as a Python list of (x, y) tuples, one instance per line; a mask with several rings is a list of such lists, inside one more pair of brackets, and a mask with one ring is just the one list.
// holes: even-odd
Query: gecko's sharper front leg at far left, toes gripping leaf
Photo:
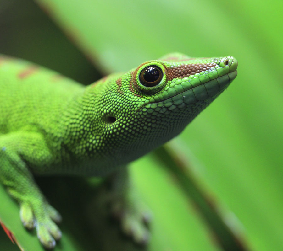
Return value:
[(42, 136), (35, 132), (0, 136), (0, 182), (19, 203), (23, 225), (27, 229), (35, 227), (42, 245), (51, 249), (62, 236), (54, 223), (60, 222), (61, 216), (48, 204), (26, 164), (26, 158), (35, 162), (48, 158), (50, 153), (45, 146)]

